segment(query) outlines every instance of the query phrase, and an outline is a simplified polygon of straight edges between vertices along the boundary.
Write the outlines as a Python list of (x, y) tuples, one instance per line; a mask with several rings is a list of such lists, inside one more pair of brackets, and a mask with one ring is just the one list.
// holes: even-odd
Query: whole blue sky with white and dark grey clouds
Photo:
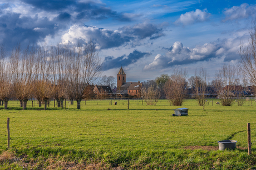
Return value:
[(155, 79), (204, 67), (210, 78), (226, 64), (239, 64), (248, 44), (256, 1), (1, 0), (0, 43), (96, 44), (102, 75), (121, 65), (126, 81)]

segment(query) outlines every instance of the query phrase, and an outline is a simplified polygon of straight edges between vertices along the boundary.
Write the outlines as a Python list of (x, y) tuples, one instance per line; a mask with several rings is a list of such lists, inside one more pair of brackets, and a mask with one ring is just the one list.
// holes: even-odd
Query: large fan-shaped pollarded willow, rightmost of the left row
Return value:
[(81, 109), (80, 102), (85, 99), (85, 90), (101, 74), (101, 60), (95, 44), (88, 42), (81, 47), (78, 43), (67, 60), (68, 89), (77, 101), (77, 109)]

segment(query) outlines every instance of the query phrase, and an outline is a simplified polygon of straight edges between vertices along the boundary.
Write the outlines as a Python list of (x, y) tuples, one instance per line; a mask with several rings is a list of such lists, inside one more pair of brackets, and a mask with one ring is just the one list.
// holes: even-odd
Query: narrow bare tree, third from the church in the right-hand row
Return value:
[[(204, 105), (205, 94), (208, 93), (208, 81), (209, 75), (206, 72), (205, 68), (200, 68), (199, 71), (195, 70), (195, 77), (193, 77), (193, 87), (191, 88), (195, 97), (195, 100), (198, 101), (200, 106)], [(190, 80), (191, 83), (191, 80)]]

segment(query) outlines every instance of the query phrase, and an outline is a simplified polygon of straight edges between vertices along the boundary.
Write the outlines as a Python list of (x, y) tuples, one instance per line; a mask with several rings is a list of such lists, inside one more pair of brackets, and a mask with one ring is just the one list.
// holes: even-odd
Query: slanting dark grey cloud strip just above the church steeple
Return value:
[(119, 68), (121, 64), (122, 66), (134, 64), (137, 62), (137, 60), (148, 55), (150, 55), (150, 53), (142, 53), (141, 51), (134, 50), (129, 55), (122, 55), (117, 58), (114, 58), (113, 56), (107, 56), (105, 57), (104, 63), (102, 64), (102, 69), (105, 71), (109, 69)]

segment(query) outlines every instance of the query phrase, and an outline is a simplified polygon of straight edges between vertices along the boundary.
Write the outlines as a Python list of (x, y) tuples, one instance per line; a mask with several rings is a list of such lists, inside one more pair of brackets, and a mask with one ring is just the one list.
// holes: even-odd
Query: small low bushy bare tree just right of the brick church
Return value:
[(150, 85), (147, 88), (142, 87), (141, 97), (142, 97), (142, 99), (145, 100), (147, 105), (156, 105), (156, 103), (160, 97), (160, 90), (152, 85)]

